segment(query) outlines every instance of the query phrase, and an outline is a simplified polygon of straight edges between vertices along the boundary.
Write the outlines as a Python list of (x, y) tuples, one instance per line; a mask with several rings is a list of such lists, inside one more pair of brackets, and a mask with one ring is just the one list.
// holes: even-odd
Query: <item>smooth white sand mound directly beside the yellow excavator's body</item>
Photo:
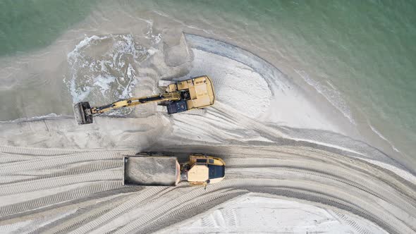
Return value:
[(243, 63), (192, 49), (194, 60), (188, 77), (207, 74), (214, 82), (217, 101), (256, 118), (270, 106), (271, 91), (259, 73)]

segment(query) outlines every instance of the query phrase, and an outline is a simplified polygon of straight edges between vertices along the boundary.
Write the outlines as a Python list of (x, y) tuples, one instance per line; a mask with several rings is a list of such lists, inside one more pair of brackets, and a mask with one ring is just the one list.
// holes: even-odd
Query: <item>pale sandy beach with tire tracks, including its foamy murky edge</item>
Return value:
[[(93, 13), (44, 50), (1, 58), (1, 95), (22, 94), (1, 109), (0, 233), (416, 232), (413, 164), (342, 102), (215, 33), (147, 20), (160, 12), (117, 13)], [(41, 81), (25, 92), (28, 74)], [(159, 80), (198, 75), (212, 79), (212, 107), (73, 118), (75, 102), (157, 94)], [(206, 190), (123, 186), (123, 156), (137, 152), (218, 156), (226, 179)]]

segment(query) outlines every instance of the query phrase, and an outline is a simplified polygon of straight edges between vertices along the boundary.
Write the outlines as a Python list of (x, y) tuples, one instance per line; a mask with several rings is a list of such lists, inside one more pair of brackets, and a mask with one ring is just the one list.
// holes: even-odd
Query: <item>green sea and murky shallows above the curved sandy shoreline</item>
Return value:
[[(1, 121), (71, 113), (71, 104), (63, 103), (73, 99), (68, 80), (76, 72), (71, 71), (71, 59), (66, 56), (85, 36), (133, 35), (135, 43), (152, 49), (159, 46), (152, 36), (161, 33), (163, 43), (171, 46), (185, 31), (224, 40), (265, 58), (307, 92), (329, 99), (335, 111), (362, 129), (364, 137), (376, 135), (379, 144), (392, 152), (414, 157), (414, 1), (64, 3), (52, 10), (49, 1), (30, 8), (2, 2), (0, 18), (6, 20), (0, 20)], [(152, 23), (150, 33), (148, 22), (143, 20)], [(30, 56), (56, 39), (61, 46), (54, 48), (59, 52), (53, 58), (61, 61), (49, 58), (23, 66), (25, 61), (42, 60), (42, 56)], [(55, 61), (59, 63), (51, 66)], [(135, 71), (142, 72), (139, 68)], [(104, 75), (107, 81), (118, 77), (113, 71)], [(109, 94), (105, 87), (111, 84), (100, 84), (94, 95), (123, 96), (123, 88), (114, 88), (116, 92)]]

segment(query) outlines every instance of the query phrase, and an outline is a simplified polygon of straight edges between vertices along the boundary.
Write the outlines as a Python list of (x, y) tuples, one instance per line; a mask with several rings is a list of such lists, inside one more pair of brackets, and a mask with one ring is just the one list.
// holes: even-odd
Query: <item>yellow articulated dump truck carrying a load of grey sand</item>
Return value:
[(224, 180), (222, 159), (203, 154), (191, 154), (180, 164), (175, 156), (141, 153), (124, 156), (123, 185), (176, 186), (181, 181), (191, 185), (208, 185)]

